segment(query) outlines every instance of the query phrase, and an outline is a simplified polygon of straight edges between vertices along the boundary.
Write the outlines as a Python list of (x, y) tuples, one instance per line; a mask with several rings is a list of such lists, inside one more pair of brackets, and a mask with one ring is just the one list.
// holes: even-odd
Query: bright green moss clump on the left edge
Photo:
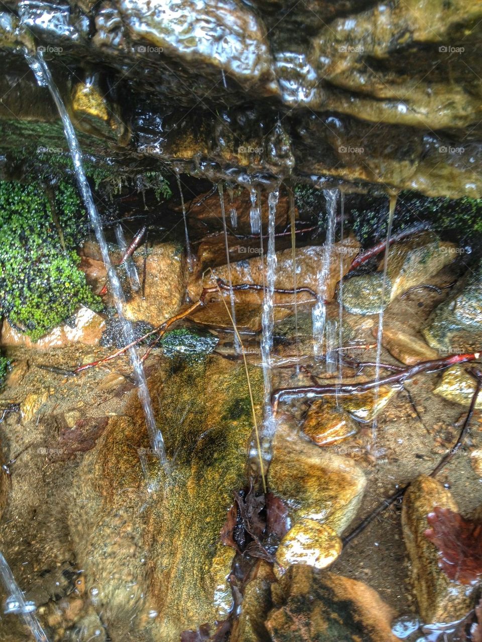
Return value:
[(39, 183), (0, 182), (0, 313), (33, 340), (81, 305), (101, 309), (74, 250), (87, 223), (67, 181), (50, 198)]

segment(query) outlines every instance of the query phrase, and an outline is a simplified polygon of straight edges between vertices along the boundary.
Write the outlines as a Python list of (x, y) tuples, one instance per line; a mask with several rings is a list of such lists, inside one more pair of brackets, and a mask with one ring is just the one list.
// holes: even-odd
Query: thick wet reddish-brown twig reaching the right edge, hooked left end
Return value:
[(365, 383), (345, 383), (345, 384), (326, 384), (322, 386), (299, 386), (297, 388), (279, 388), (271, 395), (271, 403), (273, 404), (273, 412), (276, 413), (278, 404), (283, 397), (308, 397), (310, 399), (316, 397), (324, 397), (325, 395), (349, 395), (358, 392), (365, 392), (372, 388), (377, 388), (383, 385), (390, 385), (392, 383), (403, 383), (411, 377), (420, 374), (420, 372), (427, 372), (429, 370), (441, 370), (448, 368), (456, 363), (465, 363), (465, 361), (474, 361), (478, 359), (480, 352), (470, 352), (466, 354), (452, 354), (441, 359), (434, 359), (431, 361), (420, 361), (413, 366), (404, 368), (395, 374), (383, 379), (372, 379), (365, 381)]

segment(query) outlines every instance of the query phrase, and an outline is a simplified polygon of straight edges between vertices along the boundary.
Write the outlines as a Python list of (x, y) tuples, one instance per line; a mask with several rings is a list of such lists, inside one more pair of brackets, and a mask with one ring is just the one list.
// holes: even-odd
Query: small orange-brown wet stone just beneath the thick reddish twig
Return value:
[(309, 408), (303, 424), (303, 432), (317, 446), (330, 446), (356, 435), (358, 427), (340, 406), (315, 401)]

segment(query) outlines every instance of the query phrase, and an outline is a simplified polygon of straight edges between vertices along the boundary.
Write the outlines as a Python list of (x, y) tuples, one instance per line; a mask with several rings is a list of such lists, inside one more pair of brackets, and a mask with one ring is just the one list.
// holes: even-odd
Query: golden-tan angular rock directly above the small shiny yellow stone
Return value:
[(308, 518), (340, 535), (356, 514), (365, 484), (363, 471), (352, 460), (320, 449), (280, 421), (268, 485), (288, 507), (292, 527)]

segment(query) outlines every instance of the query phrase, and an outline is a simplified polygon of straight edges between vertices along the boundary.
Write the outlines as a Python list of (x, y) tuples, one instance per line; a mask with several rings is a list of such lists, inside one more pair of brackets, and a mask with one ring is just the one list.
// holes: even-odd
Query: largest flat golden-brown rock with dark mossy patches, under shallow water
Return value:
[[(250, 374), (260, 412), (263, 374)], [(74, 510), (70, 523), (110, 636), (121, 638), (133, 627), (171, 642), (183, 630), (214, 628), (232, 607), (227, 577), (234, 551), (223, 546), (220, 532), (234, 491), (246, 485), (253, 424), (239, 363), (215, 356), (166, 363), (151, 376), (150, 392), (175, 462), (170, 480), (150, 447), (134, 393), (129, 417), (112, 418), (85, 455), (73, 501), (82, 507), (77, 500), (90, 498), (92, 511), (86, 517)], [(151, 612), (157, 617), (150, 619)]]

